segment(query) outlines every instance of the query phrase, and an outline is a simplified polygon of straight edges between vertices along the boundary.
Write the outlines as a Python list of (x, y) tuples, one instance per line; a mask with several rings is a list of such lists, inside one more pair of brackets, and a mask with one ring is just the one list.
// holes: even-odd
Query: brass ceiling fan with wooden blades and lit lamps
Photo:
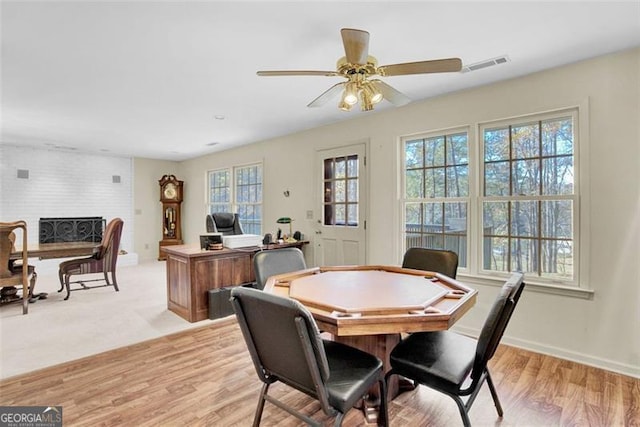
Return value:
[(346, 81), (337, 83), (311, 101), (307, 107), (320, 107), (342, 91), (338, 108), (350, 111), (361, 102), (362, 111), (373, 110), (373, 105), (386, 99), (396, 106), (411, 102), (406, 95), (374, 76), (402, 76), (408, 74), (448, 73), (460, 71), (460, 58), (436, 59), (431, 61), (406, 62), (402, 64), (378, 66), (378, 60), (369, 55), (369, 33), (353, 28), (343, 28), (342, 44), (345, 56), (338, 60), (336, 71), (258, 71), (259, 76), (328, 76), (344, 77)]

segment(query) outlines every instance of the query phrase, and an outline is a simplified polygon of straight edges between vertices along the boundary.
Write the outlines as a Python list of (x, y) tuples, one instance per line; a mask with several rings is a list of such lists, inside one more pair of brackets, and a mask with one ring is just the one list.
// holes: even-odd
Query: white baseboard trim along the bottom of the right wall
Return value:
[[(454, 327), (456, 332), (464, 335), (478, 337), (480, 330), (475, 328)], [(611, 359), (591, 356), (588, 354), (577, 353), (560, 347), (554, 347), (539, 342), (524, 340), (512, 336), (505, 335), (502, 343), (512, 347), (521, 348), (523, 350), (534, 351), (536, 353), (553, 356), (571, 362), (581, 363), (583, 365), (593, 366), (595, 368), (605, 369), (607, 371), (616, 372), (618, 374), (627, 375), (634, 378), (640, 378), (640, 367), (631, 364), (620, 363)]]

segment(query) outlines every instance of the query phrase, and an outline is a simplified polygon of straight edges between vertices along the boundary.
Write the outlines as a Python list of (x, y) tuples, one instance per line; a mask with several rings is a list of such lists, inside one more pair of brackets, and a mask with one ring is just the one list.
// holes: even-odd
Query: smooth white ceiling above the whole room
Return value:
[[(5, 1), (2, 144), (183, 160), (362, 114), (306, 105), (338, 77), (340, 29), (381, 65), (446, 57), (469, 73), (384, 81), (418, 101), (640, 45), (640, 1)], [(393, 107), (386, 101), (376, 110)], [(215, 116), (224, 116), (218, 120)], [(218, 143), (215, 146), (208, 144)]]

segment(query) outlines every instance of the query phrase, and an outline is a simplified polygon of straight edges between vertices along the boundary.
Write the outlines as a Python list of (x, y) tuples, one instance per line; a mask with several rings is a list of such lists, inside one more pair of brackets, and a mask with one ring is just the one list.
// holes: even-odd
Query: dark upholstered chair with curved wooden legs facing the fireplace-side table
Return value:
[[(124, 222), (120, 218), (114, 218), (107, 224), (107, 228), (102, 235), (102, 241), (98, 246), (97, 251), (90, 257), (76, 258), (60, 263), (58, 269), (58, 279), (60, 280), (60, 289), (58, 292), (66, 287), (67, 296), (65, 300), (69, 299), (72, 290), (80, 289), (93, 289), (101, 288), (105, 286), (113, 286), (117, 291), (118, 281), (116, 279), (116, 265), (118, 261), (118, 253), (120, 251), (120, 238), (122, 237), (122, 227)], [(71, 276), (102, 273), (103, 278), (99, 279), (81, 279), (71, 282)], [(111, 274), (111, 280), (109, 280), (109, 273)], [(106, 284), (99, 286), (87, 286), (87, 282), (105, 281)], [(71, 289), (71, 284), (80, 284), (80, 288)]]

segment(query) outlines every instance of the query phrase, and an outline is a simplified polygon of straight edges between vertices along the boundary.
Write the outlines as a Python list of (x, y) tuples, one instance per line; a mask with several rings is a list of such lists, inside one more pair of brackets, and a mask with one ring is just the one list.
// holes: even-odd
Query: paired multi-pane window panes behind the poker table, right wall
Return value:
[(464, 130), (403, 138), (403, 249), (453, 250), (472, 275), (575, 285), (577, 119), (570, 109), (481, 123), (477, 150)]

